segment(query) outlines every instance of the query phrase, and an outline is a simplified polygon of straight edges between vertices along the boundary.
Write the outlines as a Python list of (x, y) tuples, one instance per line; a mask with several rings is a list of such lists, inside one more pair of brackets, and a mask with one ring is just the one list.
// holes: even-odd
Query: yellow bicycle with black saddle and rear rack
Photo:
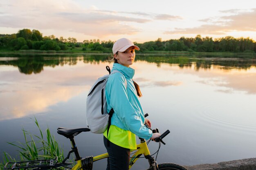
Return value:
[[(60, 169), (60, 168), (68, 168), (71, 170), (92, 170), (92, 165), (93, 162), (98, 161), (100, 159), (104, 159), (108, 157), (108, 153), (104, 153), (102, 155), (98, 156), (90, 156), (90, 157), (85, 157), (81, 158), (78, 152), (78, 149), (76, 147), (75, 141), (74, 141), (74, 136), (78, 135), (81, 132), (88, 132), (90, 129), (88, 128), (79, 128), (79, 129), (66, 129), (66, 128), (58, 128), (58, 134), (63, 135), (70, 139), (70, 142), (72, 144), (72, 150), (69, 151), (67, 154), (67, 157), (62, 161), (58, 162), (58, 158), (56, 157), (55, 159), (43, 159), (43, 160), (35, 160), (35, 161), (19, 161), (19, 162), (8, 162), (4, 166), (5, 169), (11, 169), (11, 170), (51, 170), (51, 169)], [(154, 129), (153, 133), (158, 132), (158, 129)], [(165, 144), (163, 142), (163, 138), (170, 133), (169, 130), (164, 132), (160, 137), (155, 139), (155, 142), (159, 142), (159, 148), (162, 144)], [(151, 140), (148, 140), (146, 142), (145, 139), (139, 138), (140, 139), (140, 144), (137, 144), (137, 149), (133, 150), (132, 152), (132, 157), (130, 157), (130, 162), (129, 162), (129, 169), (134, 165), (134, 163), (137, 161), (141, 155), (144, 155), (146, 159), (148, 159), (149, 162), (149, 168), (148, 170), (186, 170), (181, 165), (178, 165), (176, 163), (161, 163), (157, 164), (155, 161), (154, 157), (150, 155), (150, 152), (148, 150), (148, 143)], [(161, 142), (161, 143), (160, 143)], [(157, 150), (158, 153), (159, 149)], [(75, 161), (76, 165), (73, 167), (69, 167), (72, 165), (70, 162), (66, 162), (67, 159), (69, 159), (70, 154), (74, 153), (75, 155)]]

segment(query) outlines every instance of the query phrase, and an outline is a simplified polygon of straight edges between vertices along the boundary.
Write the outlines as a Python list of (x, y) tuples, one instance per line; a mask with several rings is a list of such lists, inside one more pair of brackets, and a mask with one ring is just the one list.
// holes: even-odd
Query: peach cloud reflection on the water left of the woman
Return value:
[(48, 111), (59, 102), (88, 92), (106, 71), (105, 62), (92, 65), (77, 61), (72, 70), (67, 65), (57, 65), (54, 70), (45, 66), (40, 74), (29, 76), (20, 74), (18, 68), (1, 72), (1, 81), (7, 83), (0, 85), (0, 120)]

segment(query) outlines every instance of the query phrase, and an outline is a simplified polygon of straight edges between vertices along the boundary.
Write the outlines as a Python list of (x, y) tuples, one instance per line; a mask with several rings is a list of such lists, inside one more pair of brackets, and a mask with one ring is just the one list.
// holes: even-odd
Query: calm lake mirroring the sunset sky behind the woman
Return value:
[[(70, 142), (58, 127), (86, 127), (86, 97), (91, 85), (108, 74), (108, 55), (0, 56), (0, 157), (18, 154), (7, 142), (24, 142), (22, 127), (38, 134), (47, 126), (63, 146)], [(157, 162), (181, 165), (255, 157), (256, 59), (137, 54), (134, 81), (144, 112), (164, 138)], [(105, 153), (103, 136), (75, 137), (82, 157)], [(158, 144), (150, 142), (151, 153)], [(106, 160), (94, 163), (104, 169)], [(132, 169), (146, 169), (141, 158)]]

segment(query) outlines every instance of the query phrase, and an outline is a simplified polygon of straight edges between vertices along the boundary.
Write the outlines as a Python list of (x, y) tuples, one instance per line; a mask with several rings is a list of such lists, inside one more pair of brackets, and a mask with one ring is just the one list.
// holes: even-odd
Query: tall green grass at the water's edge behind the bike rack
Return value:
[[(63, 149), (61, 149), (58, 142), (55, 140), (54, 135), (51, 134), (49, 128), (45, 130), (46, 139), (44, 138), (43, 132), (40, 129), (38, 121), (34, 118), (34, 122), (40, 132), (40, 135), (34, 135), (22, 128), (22, 133), (25, 142), (7, 142), (10, 145), (18, 148), (19, 160), (20, 161), (31, 161), (38, 159), (53, 159), (58, 157), (58, 161), (64, 159)], [(8, 153), (4, 152), (3, 162), (0, 163), (0, 170), (7, 162), (16, 161), (15, 158), (11, 157)]]

